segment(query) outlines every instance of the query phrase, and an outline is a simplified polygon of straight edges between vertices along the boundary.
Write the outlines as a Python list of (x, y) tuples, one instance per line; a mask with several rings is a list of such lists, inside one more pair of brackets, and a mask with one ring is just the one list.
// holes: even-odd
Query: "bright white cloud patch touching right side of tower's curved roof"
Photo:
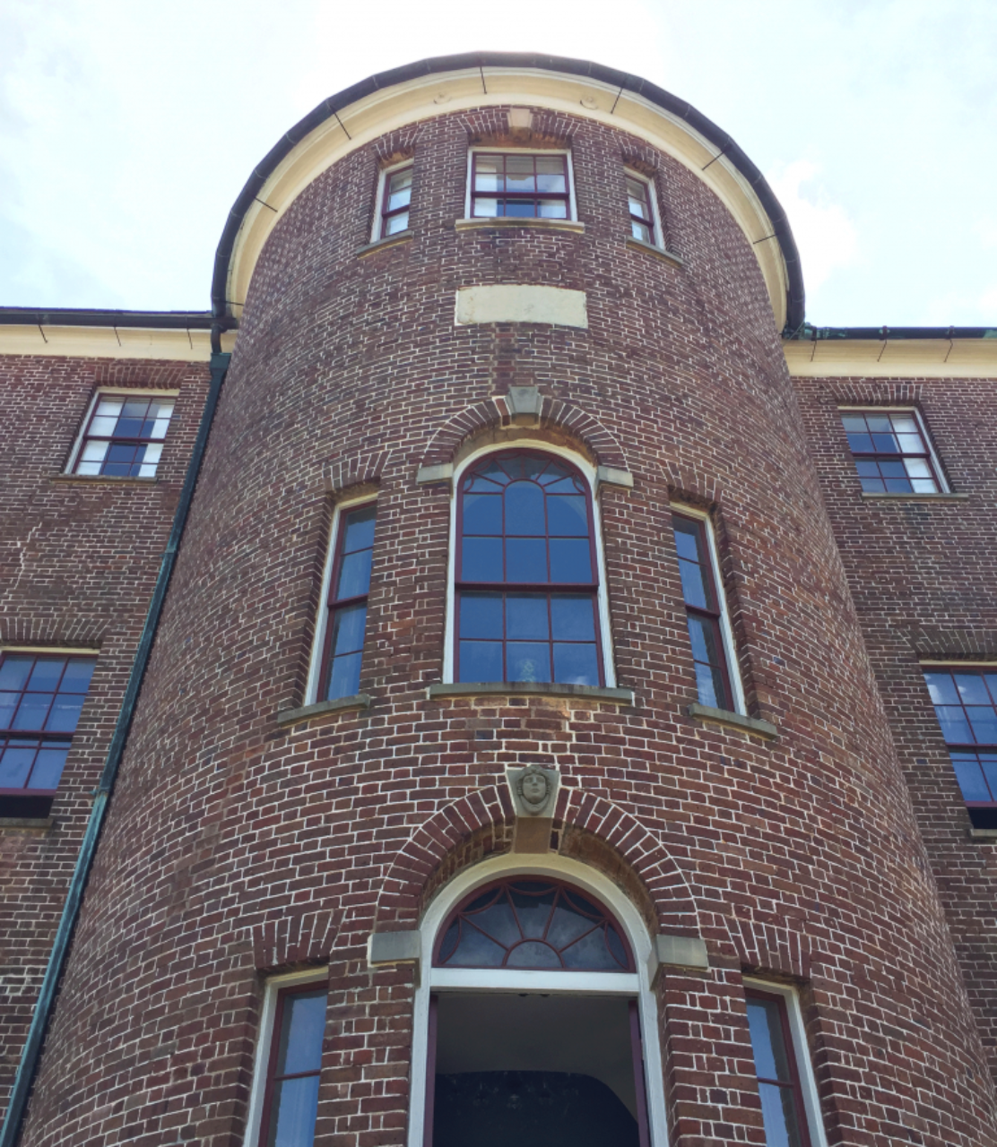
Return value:
[(813, 184), (819, 171), (808, 159), (795, 159), (768, 177), (789, 217), (810, 298), (839, 267), (858, 260), (858, 232), (844, 208), (832, 203), (820, 184)]

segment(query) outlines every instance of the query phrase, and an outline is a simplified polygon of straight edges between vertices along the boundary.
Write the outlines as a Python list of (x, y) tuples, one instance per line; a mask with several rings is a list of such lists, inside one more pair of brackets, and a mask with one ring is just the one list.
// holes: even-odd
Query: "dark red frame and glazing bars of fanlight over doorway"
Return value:
[[(516, 885), (519, 885), (519, 887), (516, 887)], [(525, 891), (527, 885), (535, 885), (536, 890), (535, 891)], [(553, 904), (551, 905), (551, 912), (550, 912), (547, 921), (546, 921), (546, 923), (544, 926), (544, 931), (543, 931), (542, 936), (539, 936), (539, 937), (532, 937), (531, 938), (531, 937), (529, 937), (527, 935), (527, 929), (523, 927), (523, 924), (520, 921), (519, 912), (516, 910), (515, 904), (513, 903), (512, 894), (515, 892), (515, 894), (517, 894), (517, 895), (520, 895), (522, 897), (539, 898), (540, 895), (546, 895), (546, 892), (548, 892), (552, 889), (555, 892), (555, 897), (554, 897)], [(542, 892), (542, 890), (543, 890), (543, 892)], [(577, 910), (576, 905), (571, 904), (570, 897), (573, 897), (573, 896), (579, 897), (581, 899), (589, 902), (594, 908), (598, 910), (598, 912), (601, 913), (601, 919), (597, 919), (595, 916), (591, 916), (591, 919), (593, 920), (593, 923), (592, 923), (592, 928), (589, 929), (589, 933), (594, 933), (598, 929), (602, 929), (603, 930), (603, 942), (606, 944), (606, 950), (609, 953), (609, 958), (613, 961), (614, 966), (609, 967), (609, 968), (593, 969), (593, 968), (564, 968), (564, 967), (553, 968), (550, 965), (515, 965), (512, 968), (509, 968), (508, 967), (509, 954), (520, 944), (523, 944), (523, 943), (543, 943), (543, 944), (547, 944), (547, 938), (546, 938), (547, 937), (547, 933), (550, 931), (551, 924), (554, 922), (555, 910), (556, 910), (556, 907), (558, 907), (561, 898), (564, 896), (564, 892), (568, 894), (567, 897), (566, 897), (566, 903), (567, 903), (568, 907), (571, 908), (571, 910), (574, 910), (575, 912), (577, 912), (578, 910)], [(489, 935), (488, 931), (484, 931), (484, 935), (489, 936), (489, 938), (492, 939), (492, 942), (494, 944), (506, 947), (506, 954), (503, 958), (501, 965), (494, 965), (494, 963), (481, 963), (481, 965), (473, 965), (473, 963), (459, 963), (459, 965), (457, 965), (455, 963), (455, 965), (449, 965), (449, 963), (445, 962), (445, 960), (442, 962), (441, 961), (441, 953), (444, 951), (444, 944), (446, 944), (446, 942), (447, 942), (447, 936), (450, 935), (451, 928), (455, 923), (459, 923), (461, 930), (465, 927), (477, 928), (477, 926), (474, 923), (473, 914), (466, 914), (466, 913), (467, 913), (467, 908), (472, 904), (474, 904), (476, 900), (478, 900), (478, 899), (481, 899), (482, 897), (485, 897), (485, 896), (494, 896), (494, 899), (491, 900), (491, 902), (489, 902), (489, 904), (486, 905), (486, 907), (489, 907), (489, 908), (492, 907), (493, 904), (497, 903), (498, 900), (505, 899), (505, 902), (511, 907), (511, 911), (512, 911), (512, 913), (513, 913), (513, 915), (514, 915), (514, 918), (516, 920), (517, 927), (520, 928), (521, 938), (519, 941), (514, 942), (513, 944), (505, 944), (505, 945), (503, 945), (503, 943), (501, 943), (500, 939), (494, 939), (492, 936)], [(483, 911), (483, 910), (480, 908), (478, 911)], [(586, 915), (587, 915), (587, 913), (586, 913)], [(609, 941), (606, 938), (606, 929), (608, 929), (608, 928), (612, 928), (613, 931), (615, 931), (616, 936), (618, 937), (620, 946), (621, 946), (621, 950), (623, 952), (624, 960), (625, 960), (624, 963), (620, 963), (620, 958), (613, 953), (613, 950), (612, 950), (612, 946), (609, 944)], [(482, 931), (483, 929), (477, 928), (477, 930)], [(577, 936), (573, 936), (569, 944), (564, 944), (564, 945), (561, 946), (561, 949), (554, 949), (554, 950), (558, 952), (558, 954), (560, 957), (563, 951), (566, 951), (568, 947), (571, 947), (579, 939), (584, 938), (584, 936), (587, 935), (589, 933), (584, 933), (584, 934), (579, 934)], [(459, 950), (460, 943), (461, 943), (461, 941), (458, 939), (457, 944), (453, 946), (453, 950), (450, 951), (450, 952), (447, 952), (445, 959), (450, 959), (450, 957), (453, 955)], [(553, 947), (553, 945), (548, 945), (548, 946)], [(464, 897), (464, 899), (457, 905), (457, 907), (454, 907), (454, 908), (451, 910), (450, 915), (446, 918), (446, 922), (439, 929), (439, 933), (438, 933), (438, 935), (436, 937), (436, 943), (435, 943), (434, 949), (433, 949), (433, 966), (435, 968), (446, 968), (446, 967), (454, 967), (454, 968), (457, 968), (457, 967), (459, 967), (459, 968), (474, 968), (474, 967), (480, 967), (480, 968), (496, 968), (496, 967), (501, 967), (501, 968), (506, 968), (506, 969), (512, 970), (512, 972), (525, 972), (525, 970), (531, 970), (532, 969), (532, 970), (539, 970), (539, 972), (564, 972), (568, 975), (570, 975), (571, 973), (578, 973), (578, 972), (585, 973), (585, 972), (592, 972), (592, 970), (600, 970), (600, 972), (607, 972), (608, 970), (610, 973), (620, 972), (620, 973), (624, 973), (624, 974), (625, 973), (633, 973), (636, 970), (636, 965), (633, 962), (633, 952), (631, 951), (630, 943), (626, 939), (626, 933), (620, 927), (620, 922), (616, 920), (616, 918), (613, 915), (613, 913), (606, 907), (606, 905), (602, 904), (598, 899), (598, 897), (592, 896), (592, 894), (587, 892), (587, 891), (583, 892), (579, 888), (576, 888), (574, 884), (570, 884), (567, 881), (563, 881), (563, 880), (553, 880), (553, 879), (548, 880), (546, 876), (537, 876), (537, 875), (531, 875), (531, 874), (528, 874), (528, 873), (523, 873), (522, 875), (519, 875), (519, 876), (503, 876), (499, 880), (494, 880), (494, 881), (491, 881), (490, 883), (482, 884), (480, 888), (476, 888), (473, 892), (468, 892), (468, 895)]]

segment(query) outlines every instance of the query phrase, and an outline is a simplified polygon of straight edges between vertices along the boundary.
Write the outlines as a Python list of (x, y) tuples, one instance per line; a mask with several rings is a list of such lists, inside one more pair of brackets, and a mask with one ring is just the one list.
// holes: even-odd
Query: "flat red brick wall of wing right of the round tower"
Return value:
[[(796, 379), (824, 497), (976, 1023), (997, 1072), (997, 843), (969, 819), (921, 658), (997, 660), (997, 387), (986, 379)], [(839, 405), (917, 406), (967, 501), (863, 501)]]

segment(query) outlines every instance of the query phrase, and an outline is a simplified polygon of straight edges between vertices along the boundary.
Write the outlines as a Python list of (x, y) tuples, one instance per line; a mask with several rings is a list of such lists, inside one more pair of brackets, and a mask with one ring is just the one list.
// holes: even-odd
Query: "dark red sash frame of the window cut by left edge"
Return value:
[[(28, 670), (24, 679), (24, 687), (18, 689), (5, 690), (2, 696), (13, 697), (17, 696), (17, 701), (14, 702), (14, 709), (10, 715), (10, 720), (5, 720), (2, 727), (0, 727), (0, 762), (7, 756), (8, 752), (29, 752), (33, 750), (33, 757), (31, 765), (24, 777), (24, 783), (18, 787), (0, 787), (0, 816), (26, 816), (26, 817), (46, 817), (52, 807), (53, 798), (55, 797), (59, 788), (57, 782), (54, 786), (46, 786), (44, 788), (37, 788), (31, 785), (32, 777), (36, 770), (39, 767), (40, 763), (46, 763), (42, 758), (42, 754), (55, 751), (63, 756), (62, 765), (60, 766), (60, 777), (62, 775), (62, 768), (65, 763), (65, 755), (69, 752), (69, 748), (72, 743), (73, 734), (76, 733), (76, 726), (79, 720), (79, 711), (76, 713), (76, 719), (72, 723), (72, 728), (53, 729), (46, 726), (50, 723), (53, 716), (55, 715), (56, 700), (60, 696), (78, 697), (79, 708), (83, 708), (86, 701), (87, 693), (89, 690), (91, 678), (93, 676), (93, 668), (96, 664), (96, 658), (86, 655), (73, 655), (73, 654), (32, 654), (32, 653), (20, 653), (10, 651), (0, 654), (0, 670), (5, 662), (13, 660), (24, 660), (31, 658), (31, 666)], [(39, 663), (57, 663), (62, 662), (62, 669), (59, 673), (59, 679), (55, 681), (55, 687), (53, 689), (45, 690), (32, 690), (29, 686), (32, 684), (31, 678), (34, 673), (36, 666)], [(62, 686), (65, 684), (67, 671), (70, 664), (86, 665), (89, 668), (89, 674), (86, 680), (86, 688), (80, 690), (76, 689), (63, 689)], [(2, 680), (2, 679), (0, 679)], [(21, 715), (22, 708), (26, 699), (31, 696), (47, 696), (50, 697), (45, 717), (40, 723), (39, 727), (16, 727), (18, 717)], [(6, 705), (3, 711), (6, 711)], [(7, 810), (6, 812), (3, 810)]]

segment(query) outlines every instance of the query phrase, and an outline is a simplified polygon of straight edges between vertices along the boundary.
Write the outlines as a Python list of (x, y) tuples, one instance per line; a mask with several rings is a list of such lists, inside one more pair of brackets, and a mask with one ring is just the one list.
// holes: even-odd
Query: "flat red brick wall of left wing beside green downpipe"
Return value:
[[(0, 827), (0, 1109), (48, 960), (166, 544), (208, 370), (0, 357), (0, 648), (99, 649), (48, 832)], [(65, 479), (100, 385), (180, 391), (157, 479)]]

